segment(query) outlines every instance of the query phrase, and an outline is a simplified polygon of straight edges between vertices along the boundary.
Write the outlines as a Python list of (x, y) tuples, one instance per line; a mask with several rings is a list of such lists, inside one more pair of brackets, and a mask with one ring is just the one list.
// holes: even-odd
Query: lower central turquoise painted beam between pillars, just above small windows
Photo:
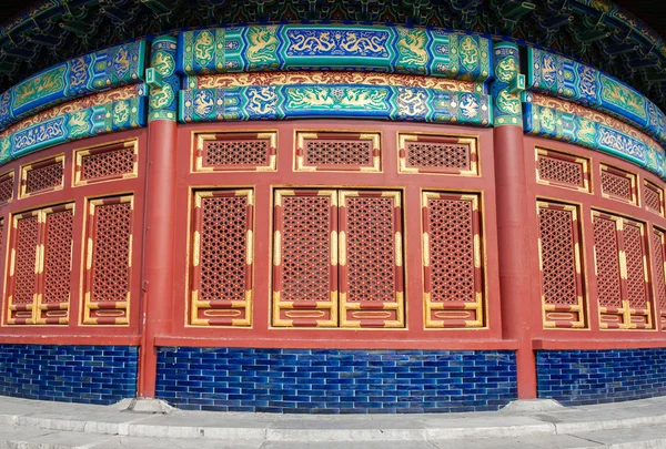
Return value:
[(491, 98), (435, 89), (360, 85), (260, 85), (181, 91), (181, 122), (361, 118), (490, 126)]

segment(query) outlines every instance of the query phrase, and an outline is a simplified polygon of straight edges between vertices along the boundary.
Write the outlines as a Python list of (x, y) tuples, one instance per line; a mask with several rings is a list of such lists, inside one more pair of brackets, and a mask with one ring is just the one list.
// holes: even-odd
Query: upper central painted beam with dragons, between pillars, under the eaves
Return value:
[(492, 42), (406, 27), (249, 25), (179, 35), (181, 74), (262, 70), (360, 70), (484, 81)]

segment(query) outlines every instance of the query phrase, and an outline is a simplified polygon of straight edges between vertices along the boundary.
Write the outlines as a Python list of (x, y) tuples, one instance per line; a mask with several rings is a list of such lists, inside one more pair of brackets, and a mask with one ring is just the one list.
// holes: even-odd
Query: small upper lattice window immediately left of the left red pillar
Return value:
[(137, 141), (112, 143), (75, 152), (74, 184), (135, 177), (138, 173)]

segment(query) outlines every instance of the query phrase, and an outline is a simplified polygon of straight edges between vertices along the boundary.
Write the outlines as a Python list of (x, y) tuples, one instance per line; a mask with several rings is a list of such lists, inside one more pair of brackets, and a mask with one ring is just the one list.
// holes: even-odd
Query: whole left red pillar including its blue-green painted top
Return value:
[[(155, 336), (168, 334), (173, 300), (175, 252), (175, 151), (178, 125), (175, 74), (176, 40), (158, 38), (152, 42), (148, 73), (150, 110), (148, 125), (148, 170), (145, 178), (142, 335), (137, 396), (155, 396), (158, 351)], [(158, 58), (159, 55), (159, 58)]]

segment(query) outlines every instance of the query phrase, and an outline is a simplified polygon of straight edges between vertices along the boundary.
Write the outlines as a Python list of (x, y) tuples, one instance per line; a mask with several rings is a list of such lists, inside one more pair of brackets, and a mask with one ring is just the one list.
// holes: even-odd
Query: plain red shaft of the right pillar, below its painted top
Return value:
[(525, 187), (523, 129), (498, 126), (494, 130), (495, 192), (497, 195), (497, 238), (500, 249), (500, 293), (502, 327), (507, 339), (518, 343), (518, 399), (536, 398), (536, 360), (532, 350), (532, 313), (539, 306), (532, 297), (529, 258), (529, 214)]

